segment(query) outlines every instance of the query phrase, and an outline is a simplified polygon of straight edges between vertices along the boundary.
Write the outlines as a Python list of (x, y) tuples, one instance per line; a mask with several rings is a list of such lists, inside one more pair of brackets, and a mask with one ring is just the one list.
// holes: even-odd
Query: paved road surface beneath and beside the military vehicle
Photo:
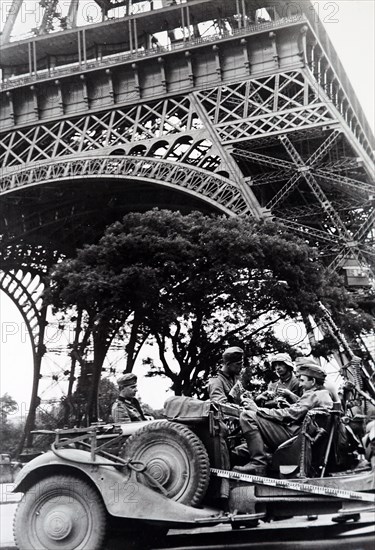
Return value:
[[(12, 493), (12, 484), (0, 485), (0, 549), (17, 550), (13, 539), (13, 517), (21, 494)], [(288, 549), (304, 550), (374, 550), (374, 513), (364, 513), (358, 523), (344, 526), (331, 521), (332, 516), (308, 520), (306, 516), (289, 520), (260, 523), (255, 529), (232, 530), (230, 526), (170, 531), (155, 548), (172, 549)], [(276, 542), (278, 541), (278, 542)], [(276, 545), (276, 546), (275, 546)], [(128, 549), (128, 546), (127, 546)], [(123, 539), (112, 539), (107, 550), (124, 550)]]

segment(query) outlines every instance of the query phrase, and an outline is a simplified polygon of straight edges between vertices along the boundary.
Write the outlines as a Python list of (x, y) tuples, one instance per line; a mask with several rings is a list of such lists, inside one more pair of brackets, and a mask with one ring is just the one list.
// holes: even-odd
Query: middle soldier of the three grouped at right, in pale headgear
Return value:
[(293, 361), (288, 353), (276, 353), (268, 362), (278, 379), (268, 384), (267, 390), (255, 398), (261, 407), (280, 407), (295, 403), (302, 395), (298, 378), (293, 373)]

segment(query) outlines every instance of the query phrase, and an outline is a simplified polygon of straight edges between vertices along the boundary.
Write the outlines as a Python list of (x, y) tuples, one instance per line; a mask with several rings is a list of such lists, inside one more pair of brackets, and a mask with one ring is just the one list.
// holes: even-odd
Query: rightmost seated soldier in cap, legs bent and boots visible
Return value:
[(332, 399), (324, 388), (326, 374), (316, 363), (300, 363), (298, 378), (302, 397), (285, 409), (260, 408), (254, 402), (247, 405), (240, 416), (242, 432), (250, 454), (250, 462), (236, 466), (238, 472), (265, 475), (267, 461), (264, 444), (271, 452), (281, 443), (295, 436), (310, 409), (332, 408)]

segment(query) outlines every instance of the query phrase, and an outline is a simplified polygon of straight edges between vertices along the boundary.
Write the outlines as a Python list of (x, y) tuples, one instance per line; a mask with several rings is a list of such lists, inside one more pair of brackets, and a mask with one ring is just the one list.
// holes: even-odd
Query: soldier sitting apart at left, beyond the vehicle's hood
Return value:
[(137, 393), (137, 377), (127, 373), (117, 380), (120, 394), (112, 406), (113, 422), (125, 424), (146, 420), (142, 407), (135, 397)]

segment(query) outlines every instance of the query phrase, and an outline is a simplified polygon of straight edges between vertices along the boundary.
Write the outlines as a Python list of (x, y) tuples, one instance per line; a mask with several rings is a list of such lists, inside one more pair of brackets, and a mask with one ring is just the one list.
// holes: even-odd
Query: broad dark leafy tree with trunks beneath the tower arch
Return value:
[(154, 209), (127, 214), (58, 264), (48, 300), (86, 312), (97, 342), (93, 392), (127, 323), (127, 370), (150, 334), (159, 350), (150, 374), (163, 372), (177, 394), (199, 395), (225, 345), (273, 351), (282, 347), (271, 330), (277, 320), (317, 314), (319, 300), (339, 307), (346, 296), (318, 251), (274, 222)]

